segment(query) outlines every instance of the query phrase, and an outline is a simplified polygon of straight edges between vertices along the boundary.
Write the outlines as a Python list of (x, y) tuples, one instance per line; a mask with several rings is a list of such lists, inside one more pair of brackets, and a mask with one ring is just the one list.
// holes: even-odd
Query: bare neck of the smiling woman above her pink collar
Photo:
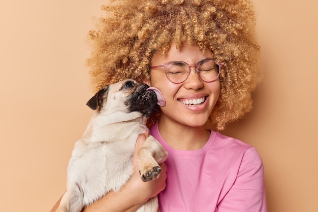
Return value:
[(158, 129), (167, 144), (177, 150), (198, 150), (204, 147), (210, 137), (205, 126), (187, 126), (161, 118)]

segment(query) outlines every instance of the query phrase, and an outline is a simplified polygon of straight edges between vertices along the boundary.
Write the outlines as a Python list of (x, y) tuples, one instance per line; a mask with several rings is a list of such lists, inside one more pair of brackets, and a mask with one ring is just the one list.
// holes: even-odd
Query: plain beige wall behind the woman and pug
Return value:
[[(92, 115), (87, 32), (104, 1), (0, 3), (0, 211), (49, 211)], [(225, 134), (257, 148), (271, 212), (317, 212), (315, 0), (255, 0), (266, 80)]]

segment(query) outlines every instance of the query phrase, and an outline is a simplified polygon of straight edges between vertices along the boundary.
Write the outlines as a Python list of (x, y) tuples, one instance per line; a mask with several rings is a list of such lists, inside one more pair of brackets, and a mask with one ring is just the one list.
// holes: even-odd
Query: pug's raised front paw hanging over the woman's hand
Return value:
[(160, 163), (164, 162), (168, 153), (157, 140), (149, 136), (137, 152), (141, 179), (151, 181), (161, 172)]

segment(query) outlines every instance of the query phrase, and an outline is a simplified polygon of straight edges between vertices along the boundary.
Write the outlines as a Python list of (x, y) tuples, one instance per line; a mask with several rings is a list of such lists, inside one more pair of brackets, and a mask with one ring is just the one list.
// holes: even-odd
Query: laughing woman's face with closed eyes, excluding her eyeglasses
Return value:
[[(172, 45), (165, 56), (154, 53), (151, 58), (151, 66), (171, 61), (195, 64), (206, 58), (213, 58), (211, 51), (207, 50), (202, 53), (200, 48), (195, 45), (184, 44), (179, 49)], [(193, 127), (202, 126), (207, 122), (219, 96), (219, 79), (210, 83), (202, 81), (196, 73), (195, 66), (191, 67), (186, 81), (180, 84), (169, 81), (164, 67), (151, 69), (150, 79), (150, 86), (158, 88), (166, 100), (166, 105), (161, 107), (161, 121)], [(201, 102), (202, 100), (203, 102)]]

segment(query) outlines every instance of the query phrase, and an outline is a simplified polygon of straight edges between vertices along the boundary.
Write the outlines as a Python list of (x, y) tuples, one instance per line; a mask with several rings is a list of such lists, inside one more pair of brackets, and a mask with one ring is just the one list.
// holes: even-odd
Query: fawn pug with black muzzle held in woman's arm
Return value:
[[(146, 84), (124, 80), (105, 86), (87, 102), (96, 112), (75, 143), (67, 169), (67, 191), (57, 212), (81, 211), (109, 191), (119, 191), (130, 179), (137, 137), (146, 129), (145, 120), (158, 102), (158, 91), (148, 88)], [(146, 182), (161, 172), (159, 164), (168, 154), (149, 136), (137, 156), (141, 179)], [(137, 211), (157, 210), (154, 197)]]

